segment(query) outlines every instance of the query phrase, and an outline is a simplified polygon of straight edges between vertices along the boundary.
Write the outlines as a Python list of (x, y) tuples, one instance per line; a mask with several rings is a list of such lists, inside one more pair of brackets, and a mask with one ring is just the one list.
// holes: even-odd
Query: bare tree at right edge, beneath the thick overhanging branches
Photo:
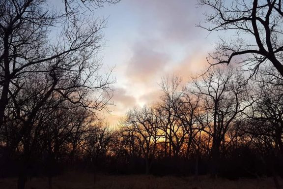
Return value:
[(282, 76), (273, 66), (259, 70), (254, 79), (254, 103), (246, 112), (248, 126), (242, 127), (249, 133), (251, 141), (262, 152), (261, 158), (272, 173), (276, 187), (278, 167), (283, 157), (283, 85)]

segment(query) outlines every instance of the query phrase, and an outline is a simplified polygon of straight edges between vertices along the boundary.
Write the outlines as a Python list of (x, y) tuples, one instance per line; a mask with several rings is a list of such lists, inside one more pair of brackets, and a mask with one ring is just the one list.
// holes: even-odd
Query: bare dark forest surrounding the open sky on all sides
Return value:
[(198, 0), (209, 11), (197, 27), (236, 35), (220, 37), (203, 71), (161, 77), (158, 99), (110, 126), (99, 115), (115, 104), (115, 68), (102, 73), (97, 56), (107, 21), (84, 11), (119, 1), (62, 0), (57, 11), (0, 0), (0, 180), (25, 189), (45, 177), (52, 189), (69, 171), (208, 175), (271, 178), (281, 189), (281, 0)]

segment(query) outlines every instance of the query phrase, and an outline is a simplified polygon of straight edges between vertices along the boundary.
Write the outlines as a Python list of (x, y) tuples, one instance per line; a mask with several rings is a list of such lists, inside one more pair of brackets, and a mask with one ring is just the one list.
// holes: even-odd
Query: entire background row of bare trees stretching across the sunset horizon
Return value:
[[(5, 122), (1, 175), (45, 175), (51, 185), (52, 177), (74, 169), (230, 179), (273, 176), (278, 182), (282, 82), (272, 67), (255, 79), (229, 67), (210, 68), (188, 83), (165, 77), (160, 99), (130, 110), (115, 129), (69, 102), (43, 108), (19, 142), (15, 128), (21, 129), (21, 123)], [(8, 148), (15, 142), (15, 148)]]

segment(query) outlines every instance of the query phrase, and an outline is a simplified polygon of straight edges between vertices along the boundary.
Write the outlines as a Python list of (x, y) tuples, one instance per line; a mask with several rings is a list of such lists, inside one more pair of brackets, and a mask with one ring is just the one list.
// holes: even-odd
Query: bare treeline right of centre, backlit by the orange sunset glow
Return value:
[(121, 122), (122, 159), (142, 158), (146, 173), (277, 179), (283, 80), (276, 73), (267, 67), (248, 79), (214, 67), (184, 86), (179, 77), (164, 78), (160, 100)]

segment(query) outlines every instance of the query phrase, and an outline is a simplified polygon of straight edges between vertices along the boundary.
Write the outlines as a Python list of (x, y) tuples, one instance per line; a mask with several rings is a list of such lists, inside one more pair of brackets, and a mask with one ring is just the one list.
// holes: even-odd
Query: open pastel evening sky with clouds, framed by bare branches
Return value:
[(163, 76), (188, 80), (203, 70), (217, 41), (196, 27), (205, 11), (197, 0), (121, 0), (94, 11), (108, 19), (100, 56), (106, 71), (114, 67), (114, 106), (102, 115), (111, 126), (129, 109), (158, 100)]

